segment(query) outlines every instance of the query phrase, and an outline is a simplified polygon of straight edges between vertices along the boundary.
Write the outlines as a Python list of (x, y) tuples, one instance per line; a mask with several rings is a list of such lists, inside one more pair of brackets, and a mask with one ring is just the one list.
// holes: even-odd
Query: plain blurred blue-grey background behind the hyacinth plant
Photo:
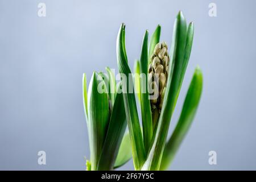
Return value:
[[(38, 17), (38, 3), (47, 15)], [(208, 16), (210, 2), (217, 17)], [(126, 23), (129, 64), (144, 30), (162, 25), (170, 45), (175, 16), (195, 22), (192, 55), (171, 130), (193, 70), (204, 89), (195, 121), (170, 167), (256, 169), (255, 1), (0, 1), (0, 169), (85, 169), (88, 135), (82, 73), (117, 68), (115, 40)], [(39, 166), (37, 153), (47, 153)], [(217, 152), (217, 165), (208, 152)], [(130, 161), (120, 169), (133, 169)]]

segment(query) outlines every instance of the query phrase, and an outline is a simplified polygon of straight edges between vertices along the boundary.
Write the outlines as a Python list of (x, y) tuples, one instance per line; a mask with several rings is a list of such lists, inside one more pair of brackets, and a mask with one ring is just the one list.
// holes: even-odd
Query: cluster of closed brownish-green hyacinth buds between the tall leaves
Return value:
[(153, 109), (158, 107), (160, 110), (163, 105), (170, 62), (167, 49), (166, 42), (158, 43), (155, 46), (154, 53), (152, 53), (150, 57), (151, 63), (148, 66), (148, 86), (152, 89), (152, 93), (150, 94), (158, 96), (158, 98), (150, 100)]

